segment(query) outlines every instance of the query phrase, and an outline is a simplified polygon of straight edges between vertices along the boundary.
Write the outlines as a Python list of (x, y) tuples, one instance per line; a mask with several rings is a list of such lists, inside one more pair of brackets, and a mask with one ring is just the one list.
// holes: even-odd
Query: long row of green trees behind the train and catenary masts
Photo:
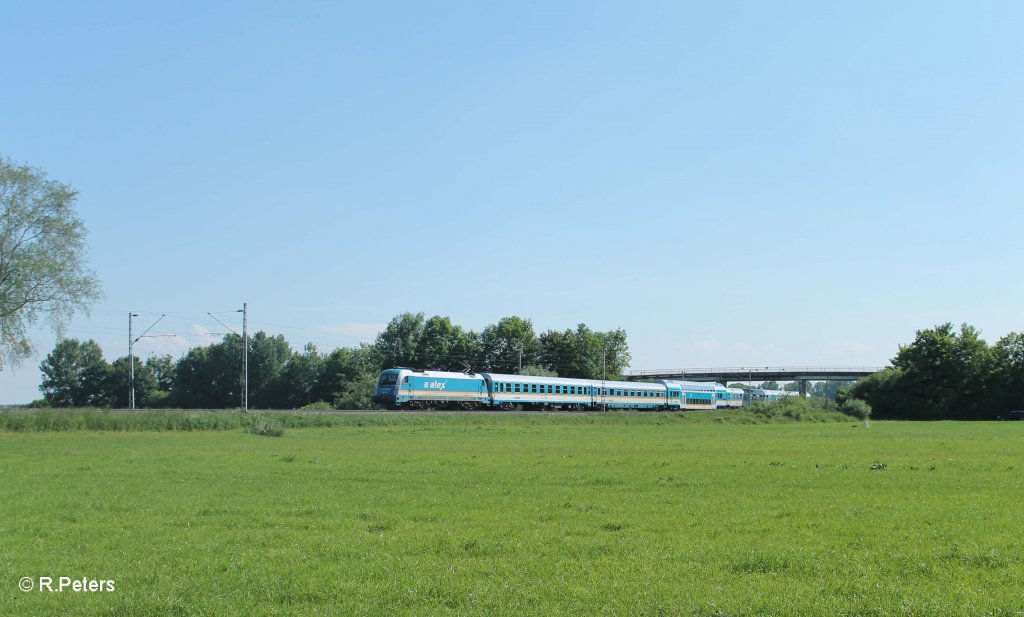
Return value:
[[(108, 362), (95, 341), (58, 341), (40, 369), (40, 406), (127, 407), (134, 369), (136, 407), (221, 409), (242, 404), (243, 339), (195, 347), (175, 360), (153, 355)], [(467, 330), (449, 317), (403, 313), (375, 342), (321, 352), (307, 344), (294, 351), (283, 336), (258, 332), (249, 339), (249, 406), (294, 409), (319, 406), (370, 408), (381, 370), (394, 366), (457, 371), (616, 379), (629, 365), (626, 333), (596, 332), (586, 324), (538, 336), (529, 319), (512, 316)], [(132, 364), (129, 364), (132, 362)]]

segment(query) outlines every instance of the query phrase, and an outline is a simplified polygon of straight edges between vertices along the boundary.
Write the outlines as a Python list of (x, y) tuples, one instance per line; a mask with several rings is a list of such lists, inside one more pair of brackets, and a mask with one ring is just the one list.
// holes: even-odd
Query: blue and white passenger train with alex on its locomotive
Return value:
[(790, 394), (796, 393), (678, 380), (616, 382), (399, 366), (381, 372), (372, 400), (391, 409), (700, 410)]

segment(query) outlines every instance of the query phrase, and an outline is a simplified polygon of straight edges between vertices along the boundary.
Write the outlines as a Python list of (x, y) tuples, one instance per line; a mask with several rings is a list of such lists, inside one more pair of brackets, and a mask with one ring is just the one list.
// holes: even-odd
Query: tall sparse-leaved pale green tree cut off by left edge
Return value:
[(32, 354), (29, 328), (40, 317), (60, 336), (99, 298), (77, 197), (42, 171), (0, 158), (0, 369)]

